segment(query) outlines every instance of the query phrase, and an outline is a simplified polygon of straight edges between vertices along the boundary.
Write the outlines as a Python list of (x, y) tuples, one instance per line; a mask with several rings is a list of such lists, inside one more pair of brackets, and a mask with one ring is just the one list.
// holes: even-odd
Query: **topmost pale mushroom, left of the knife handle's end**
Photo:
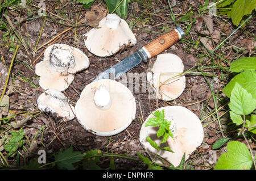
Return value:
[(132, 46), (137, 40), (125, 20), (116, 14), (108, 14), (85, 34), (85, 46), (99, 57), (108, 57), (125, 47)]

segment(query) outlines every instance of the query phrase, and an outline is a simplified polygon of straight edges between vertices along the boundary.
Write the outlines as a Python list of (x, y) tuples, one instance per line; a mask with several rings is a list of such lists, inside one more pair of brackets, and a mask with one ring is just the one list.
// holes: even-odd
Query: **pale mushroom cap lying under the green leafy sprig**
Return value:
[[(189, 155), (203, 142), (203, 126), (195, 113), (189, 111), (185, 107), (167, 106), (161, 107), (158, 110), (162, 111), (163, 109), (165, 118), (167, 120), (171, 119), (172, 123), (174, 123), (175, 133), (174, 138), (168, 138), (167, 142), (161, 146), (170, 146), (174, 153), (171, 153), (170, 151), (159, 150), (158, 154), (172, 163), (172, 165), (178, 166), (184, 152), (185, 159), (188, 159)], [(144, 149), (150, 155), (150, 157), (154, 158), (156, 149), (150, 145), (150, 143), (146, 140), (146, 137), (150, 136), (150, 138), (158, 144), (160, 143), (160, 138), (156, 136), (156, 132), (158, 130), (157, 127), (145, 127), (145, 124), (150, 119), (150, 117), (154, 116), (151, 114), (147, 117), (146, 121), (144, 121), (141, 132), (139, 134), (139, 141), (144, 146)], [(156, 161), (160, 163), (160, 160)]]

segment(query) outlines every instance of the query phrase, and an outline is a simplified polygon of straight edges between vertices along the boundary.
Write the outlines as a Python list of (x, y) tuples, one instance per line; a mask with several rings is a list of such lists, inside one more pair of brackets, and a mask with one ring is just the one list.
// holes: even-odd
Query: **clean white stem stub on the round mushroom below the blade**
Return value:
[(112, 102), (109, 91), (104, 85), (101, 85), (100, 88), (95, 91), (93, 100), (97, 108), (101, 110), (108, 110)]

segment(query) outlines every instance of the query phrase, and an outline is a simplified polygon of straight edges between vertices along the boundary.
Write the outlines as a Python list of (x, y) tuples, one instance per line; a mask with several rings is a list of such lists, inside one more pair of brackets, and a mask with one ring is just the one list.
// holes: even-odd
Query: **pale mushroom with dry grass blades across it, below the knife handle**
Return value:
[(171, 53), (159, 54), (147, 73), (147, 81), (155, 89), (156, 98), (161, 100), (174, 100), (185, 89), (184, 66), (180, 57)]

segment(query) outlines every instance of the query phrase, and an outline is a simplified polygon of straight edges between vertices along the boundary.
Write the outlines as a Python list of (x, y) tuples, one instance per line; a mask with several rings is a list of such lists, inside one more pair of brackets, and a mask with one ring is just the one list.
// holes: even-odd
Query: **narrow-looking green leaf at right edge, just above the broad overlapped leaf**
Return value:
[(256, 70), (256, 57), (242, 57), (230, 64), (230, 71)]

